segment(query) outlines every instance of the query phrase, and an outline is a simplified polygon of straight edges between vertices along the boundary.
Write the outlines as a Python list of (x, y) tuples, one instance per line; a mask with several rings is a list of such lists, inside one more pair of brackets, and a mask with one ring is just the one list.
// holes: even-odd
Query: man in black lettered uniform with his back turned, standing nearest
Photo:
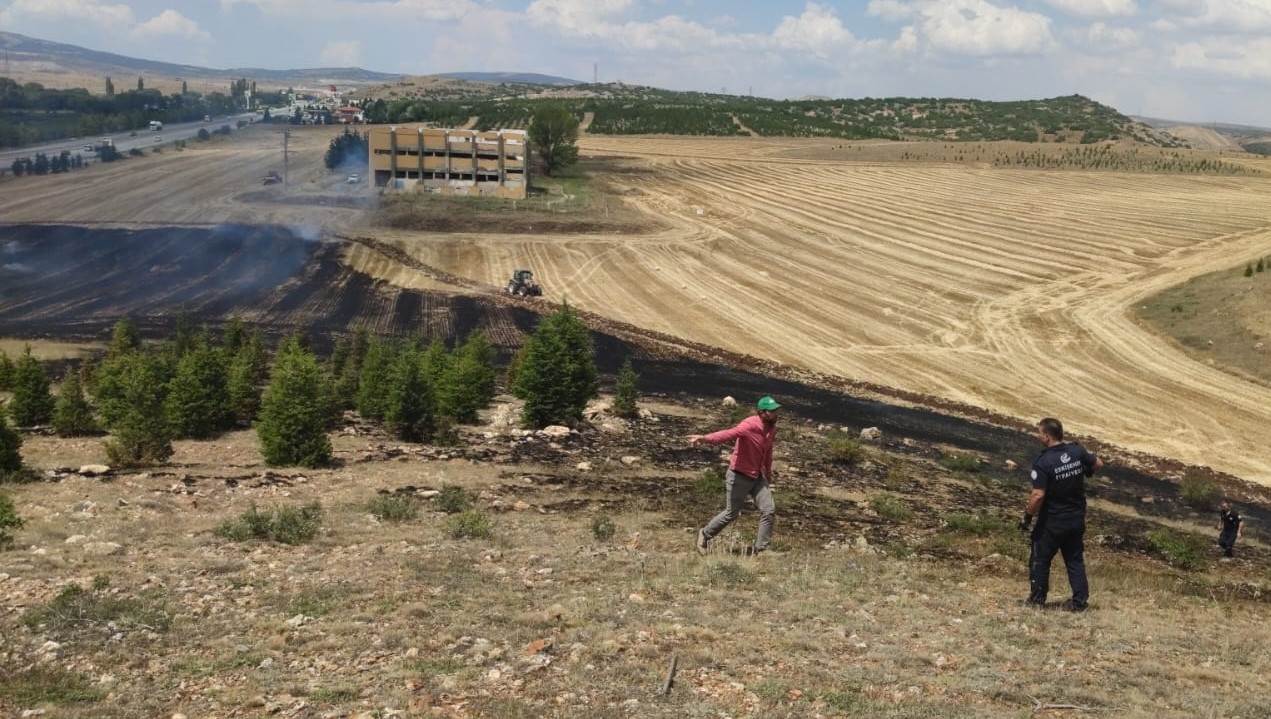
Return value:
[(1064, 442), (1064, 424), (1047, 417), (1037, 423), (1037, 438), (1045, 445), (1033, 461), (1032, 492), (1021, 528), (1032, 530), (1028, 558), (1028, 598), (1026, 605), (1045, 606), (1050, 592), (1050, 563), (1055, 553), (1064, 554), (1068, 584), (1073, 598), (1064, 603), (1071, 611), (1085, 611), (1091, 587), (1085, 581), (1085, 478), (1103, 466), (1103, 460), (1077, 442)]

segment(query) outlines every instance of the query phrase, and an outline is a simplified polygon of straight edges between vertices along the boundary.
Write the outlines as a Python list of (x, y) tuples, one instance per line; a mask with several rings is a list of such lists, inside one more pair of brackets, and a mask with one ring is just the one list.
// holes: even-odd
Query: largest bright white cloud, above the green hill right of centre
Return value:
[[(867, 11), (888, 22), (911, 22), (915, 39), (937, 52), (986, 57), (1055, 47), (1050, 18), (988, 0), (873, 0)], [(901, 44), (909, 43), (897, 41), (894, 47)]]

